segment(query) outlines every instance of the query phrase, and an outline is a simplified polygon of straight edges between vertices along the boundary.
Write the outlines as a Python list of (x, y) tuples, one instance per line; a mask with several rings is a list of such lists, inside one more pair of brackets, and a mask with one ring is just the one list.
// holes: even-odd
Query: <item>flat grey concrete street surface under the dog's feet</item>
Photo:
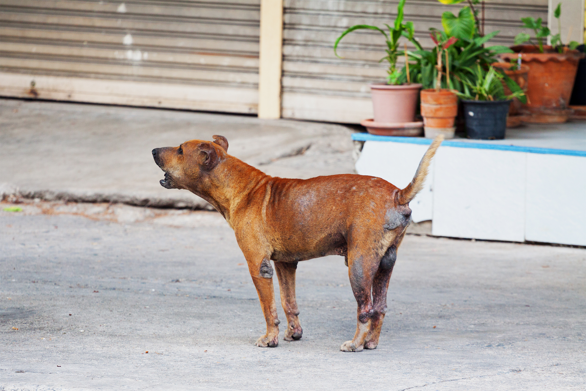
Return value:
[(303, 338), (257, 348), (219, 213), (0, 206), (2, 391), (584, 389), (585, 249), (409, 234), (379, 347), (359, 353), (339, 351), (356, 325), (343, 257), (305, 261)]

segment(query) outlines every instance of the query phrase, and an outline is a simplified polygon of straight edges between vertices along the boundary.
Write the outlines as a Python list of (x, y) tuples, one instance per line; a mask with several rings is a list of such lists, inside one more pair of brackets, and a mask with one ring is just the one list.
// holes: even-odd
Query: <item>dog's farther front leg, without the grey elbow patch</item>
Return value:
[(285, 341), (301, 339), (303, 330), (299, 323), (299, 310), (297, 300), (295, 300), (295, 271), (297, 262), (275, 262), (275, 270), (279, 278), (279, 288), (281, 290), (281, 304), (283, 311), (287, 315), (287, 330), (285, 330)]

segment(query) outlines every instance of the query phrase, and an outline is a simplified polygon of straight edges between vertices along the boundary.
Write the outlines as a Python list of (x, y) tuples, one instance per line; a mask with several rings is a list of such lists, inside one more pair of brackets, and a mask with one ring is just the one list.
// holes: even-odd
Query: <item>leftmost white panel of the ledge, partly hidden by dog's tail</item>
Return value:
[[(366, 141), (362, 154), (356, 162), (356, 172), (360, 175), (378, 176), (403, 189), (413, 179), (417, 166), (428, 147), (429, 145), (404, 142)], [(423, 190), (409, 203), (413, 210), (411, 217), (416, 223), (431, 220), (433, 178), (434, 161), (431, 162)]]

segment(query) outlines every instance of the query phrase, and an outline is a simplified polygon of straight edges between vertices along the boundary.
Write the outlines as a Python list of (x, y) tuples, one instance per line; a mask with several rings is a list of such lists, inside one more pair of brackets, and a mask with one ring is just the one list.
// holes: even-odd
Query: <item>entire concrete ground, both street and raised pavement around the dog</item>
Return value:
[(264, 318), (222, 216), (131, 206), (206, 208), (159, 185), (154, 147), (222, 134), (268, 174), (309, 178), (353, 171), (352, 131), (0, 100), (0, 391), (584, 389), (586, 249), (413, 225), (376, 350), (339, 351), (356, 302), (336, 256), (299, 264), (301, 341), (257, 348)]

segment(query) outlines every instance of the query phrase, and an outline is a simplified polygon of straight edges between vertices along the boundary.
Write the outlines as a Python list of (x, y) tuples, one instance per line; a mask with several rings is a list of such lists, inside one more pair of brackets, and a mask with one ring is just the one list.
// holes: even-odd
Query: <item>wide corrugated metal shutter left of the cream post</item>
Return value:
[(1, 0), (0, 94), (256, 113), (260, 0)]

